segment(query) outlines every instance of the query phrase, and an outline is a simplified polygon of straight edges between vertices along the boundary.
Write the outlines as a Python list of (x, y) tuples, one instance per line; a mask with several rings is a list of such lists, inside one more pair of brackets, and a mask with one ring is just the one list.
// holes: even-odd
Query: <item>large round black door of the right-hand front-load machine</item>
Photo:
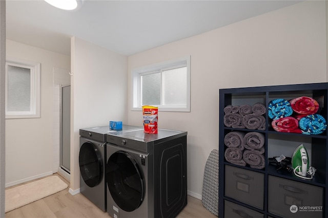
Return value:
[(134, 158), (127, 152), (113, 153), (106, 166), (107, 186), (117, 206), (131, 212), (144, 199), (145, 184)]

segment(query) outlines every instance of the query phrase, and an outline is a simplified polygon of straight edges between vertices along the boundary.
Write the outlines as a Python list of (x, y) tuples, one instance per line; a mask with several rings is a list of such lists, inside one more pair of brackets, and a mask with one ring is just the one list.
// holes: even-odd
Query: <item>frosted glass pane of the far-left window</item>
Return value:
[(8, 65), (8, 111), (30, 111), (31, 69)]

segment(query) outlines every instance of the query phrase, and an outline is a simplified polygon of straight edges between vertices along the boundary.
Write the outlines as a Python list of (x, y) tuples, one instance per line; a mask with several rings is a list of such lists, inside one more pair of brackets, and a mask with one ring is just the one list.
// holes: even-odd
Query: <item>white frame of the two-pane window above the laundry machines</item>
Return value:
[[(131, 70), (132, 75), (132, 108), (133, 111), (141, 111), (141, 76), (154, 74), (156, 72), (187, 67), (187, 103), (186, 105), (152, 105), (158, 107), (159, 111), (175, 111), (175, 112), (190, 112), (190, 56), (182, 57), (174, 60), (160, 62), (148, 66), (143, 66)], [(162, 81), (161, 81), (161, 104), (162, 104)]]

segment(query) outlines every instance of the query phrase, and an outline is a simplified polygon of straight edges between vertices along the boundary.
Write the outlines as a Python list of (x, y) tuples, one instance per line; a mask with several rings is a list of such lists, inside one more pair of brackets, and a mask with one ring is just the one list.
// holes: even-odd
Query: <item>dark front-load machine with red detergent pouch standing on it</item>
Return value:
[(107, 135), (107, 212), (114, 218), (175, 217), (187, 205), (187, 132)]

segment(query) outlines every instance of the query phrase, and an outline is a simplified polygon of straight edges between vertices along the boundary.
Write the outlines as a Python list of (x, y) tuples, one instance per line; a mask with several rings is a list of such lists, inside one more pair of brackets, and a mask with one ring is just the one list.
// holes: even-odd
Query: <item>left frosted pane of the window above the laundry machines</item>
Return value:
[(160, 72), (141, 76), (141, 105), (160, 105)]

